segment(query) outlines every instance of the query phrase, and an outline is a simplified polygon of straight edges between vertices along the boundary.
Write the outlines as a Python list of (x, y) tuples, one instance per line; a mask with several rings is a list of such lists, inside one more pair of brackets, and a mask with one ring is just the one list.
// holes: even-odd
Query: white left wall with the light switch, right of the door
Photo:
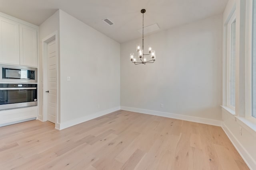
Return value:
[(60, 10), (60, 127), (119, 108), (120, 44)]

